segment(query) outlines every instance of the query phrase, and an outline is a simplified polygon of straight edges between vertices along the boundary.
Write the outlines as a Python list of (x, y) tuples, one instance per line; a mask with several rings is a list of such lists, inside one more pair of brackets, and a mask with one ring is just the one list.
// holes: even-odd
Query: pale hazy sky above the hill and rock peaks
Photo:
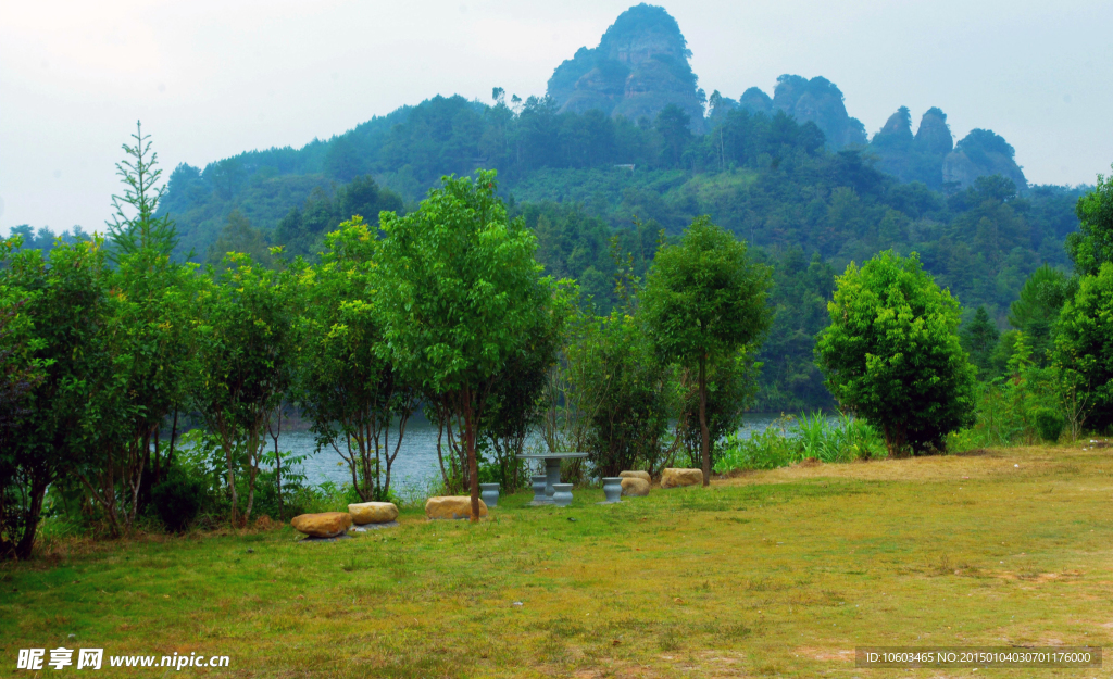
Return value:
[[(0, 7), (0, 229), (100, 230), (141, 119), (165, 176), (343, 132), (434, 95), (543, 95), (630, 3), (191, 0)], [(825, 76), (876, 132), (940, 107), (1004, 136), (1036, 184), (1113, 161), (1113, 2), (669, 1), (700, 86)]]

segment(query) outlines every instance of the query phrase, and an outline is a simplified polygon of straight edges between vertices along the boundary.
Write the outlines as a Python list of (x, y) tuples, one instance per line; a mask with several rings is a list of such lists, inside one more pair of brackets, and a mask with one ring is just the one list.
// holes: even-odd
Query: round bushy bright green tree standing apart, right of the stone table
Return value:
[(886, 250), (836, 279), (816, 361), (838, 402), (881, 429), (894, 456), (944, 450), (974, 422), (975, 370), (959, 344), (958, 302), (913, 253)]

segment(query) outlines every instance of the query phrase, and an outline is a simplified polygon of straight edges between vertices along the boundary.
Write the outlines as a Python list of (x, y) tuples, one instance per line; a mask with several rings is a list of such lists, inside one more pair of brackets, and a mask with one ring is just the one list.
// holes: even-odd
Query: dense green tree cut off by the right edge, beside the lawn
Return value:
[(1113, 424), (1113, 262), (1083, 276), (1074, 298), (1063, 305), (1055, 358), (1089, 392), (1090, 424), (1096, 430)]

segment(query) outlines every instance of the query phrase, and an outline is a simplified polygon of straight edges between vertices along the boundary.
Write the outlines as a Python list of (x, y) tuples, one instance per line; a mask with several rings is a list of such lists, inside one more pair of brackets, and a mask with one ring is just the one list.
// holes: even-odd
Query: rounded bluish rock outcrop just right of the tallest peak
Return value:
[(760, 89), (751, 87), (742, 92), (739, 106), (766, 115), (785, 111), (797, 122), (815, 122), (824, 131), (827, 146), (833, 149), (866, 144), (866, 128), (846, 112), (843, 92), (827, 78), (808, 80), (786, 73), (777, 78), (771, 99)]

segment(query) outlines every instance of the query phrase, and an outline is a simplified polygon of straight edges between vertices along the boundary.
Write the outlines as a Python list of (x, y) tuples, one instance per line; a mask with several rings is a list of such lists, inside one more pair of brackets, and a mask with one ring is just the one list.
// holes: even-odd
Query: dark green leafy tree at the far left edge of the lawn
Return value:
[(16, 332), (0, 351), (13, 352), (9, 366), (36, 380), (21, 390), (22, 413), (8, 422), (0, 446), (0, 558), (27, 559), (47, 488), (112, 433), (102, 423), (117, 390), (105, 337), (104, 242), (60, 244), (48, 260), (39, 250), (13, 254), (17, 240), (0, 243), (0, 301), (19, 304)]

